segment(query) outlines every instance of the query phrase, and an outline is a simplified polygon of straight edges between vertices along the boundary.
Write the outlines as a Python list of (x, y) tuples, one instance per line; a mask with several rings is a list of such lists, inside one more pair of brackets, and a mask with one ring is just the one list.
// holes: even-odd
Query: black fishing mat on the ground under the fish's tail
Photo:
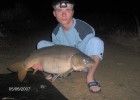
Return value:
[(20, 82), (17, 73), (0, 74), (0, 100), (68, 100), (42, 72), (28, 72)]

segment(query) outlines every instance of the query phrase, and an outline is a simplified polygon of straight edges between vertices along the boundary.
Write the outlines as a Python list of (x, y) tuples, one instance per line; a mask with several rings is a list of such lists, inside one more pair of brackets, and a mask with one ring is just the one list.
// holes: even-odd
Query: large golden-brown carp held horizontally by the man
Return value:
[(72, 71), (91, 67), (94, 63), (94, 60), (74, 47), (55, 45), (34, 51), (20, 64), (13, 64), (8, 69), (18, 72), (20, 81), (23, 81), (30, 68), (34, 69), (34, 73), (39, 70), (55, 74), (54, 81), (58, 76), (65, 77)]

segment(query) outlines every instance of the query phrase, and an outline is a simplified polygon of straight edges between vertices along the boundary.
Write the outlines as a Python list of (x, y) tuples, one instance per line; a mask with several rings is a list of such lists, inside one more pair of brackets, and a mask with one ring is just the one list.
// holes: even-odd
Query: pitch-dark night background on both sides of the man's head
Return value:
[[(75, 2), (74, 17), (85, 20), (97, 31), (104, 26), (103, 32), (99, 33), (109, 33), (121, 28), (136, 30), (134, 16), (139, 17), (138, 0), (75, 0)], [(53, 29), (57, 21), (53, 16), (51, 4), (52, 0), (1, 0), (0, 31), (3, 34), (15, 33), (46, 26)]]

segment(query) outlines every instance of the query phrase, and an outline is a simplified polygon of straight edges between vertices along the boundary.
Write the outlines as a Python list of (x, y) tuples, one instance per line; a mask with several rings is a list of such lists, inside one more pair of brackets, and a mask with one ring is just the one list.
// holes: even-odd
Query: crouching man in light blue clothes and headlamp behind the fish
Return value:
[(101, 87), (99, 82), (94, 79), (94, 73), (103, 57), (103, 41), (95, 37), (92, 26), (82, 20), (73, 18), (74, 2), (72, 0), (54, 0), (52, 6), (54, 8), (53, 15), (59, 24), (52, 32), (52, 42), (41, 40), (37, 44), (37, 49), (60, 44), (78, 48), (90, 56), (96, 63), (88, 69), (87, 85), (90, 92), (100, 92)]

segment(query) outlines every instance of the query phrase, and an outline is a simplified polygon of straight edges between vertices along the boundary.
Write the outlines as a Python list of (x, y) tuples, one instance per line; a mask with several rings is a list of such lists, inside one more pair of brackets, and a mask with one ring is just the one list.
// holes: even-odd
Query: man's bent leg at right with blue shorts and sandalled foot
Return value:
[(104, 53), (103, 41), (98, 37), (93, 37), (88, 41), (85, 48), (85, 53), (95, 61), (95, 64), (88, 69), (88, 73), (87, 73), (87, 84), (89, 90), (93, 93), (100, 92), (101, 87), (99, 82), (95, 80), (94, 74), (103, 57), (103, 53)]

